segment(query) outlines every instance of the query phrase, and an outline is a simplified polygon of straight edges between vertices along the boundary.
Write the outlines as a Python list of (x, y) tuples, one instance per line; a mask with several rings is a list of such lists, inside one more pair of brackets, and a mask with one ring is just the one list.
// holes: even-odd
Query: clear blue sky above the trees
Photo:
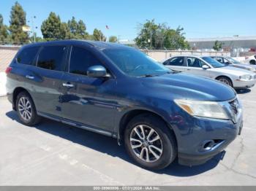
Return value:
[[(0, 0), (0, 14), (9, 25), (10, 10), (16, 0)], [(166, 23), (170, 28), (181, 26), (187, 38), (256, 36), (255, 0), (18, 0), (27, 20), (36, 16), (40, 26), (50, 12), (62, 22), (74, 16), (83, 20), (89, 33), (100, 29), (105, 36), (134, 39), (138, 26), (146, 20)], [(108, 25), (109, 29), (105, 26)]]

